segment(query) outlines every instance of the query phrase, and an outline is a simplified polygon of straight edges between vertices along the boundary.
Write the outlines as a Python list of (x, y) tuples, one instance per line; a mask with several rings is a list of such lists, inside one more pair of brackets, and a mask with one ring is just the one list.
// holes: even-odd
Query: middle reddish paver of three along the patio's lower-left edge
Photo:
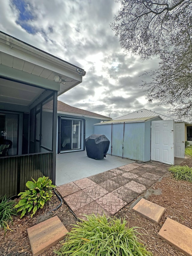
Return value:
[(70, 206), (72, 211), (84, 207), (86, 204), (91, 203), (93, 199), (88, 196), (83, 190), (77, 191), (73, 194), (70, 194), (64, 197), (65, 202)]

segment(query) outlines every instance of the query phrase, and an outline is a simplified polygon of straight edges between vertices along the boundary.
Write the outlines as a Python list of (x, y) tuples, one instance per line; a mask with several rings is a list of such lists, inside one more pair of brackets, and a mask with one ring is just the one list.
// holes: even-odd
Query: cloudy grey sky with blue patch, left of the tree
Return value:
[(0, 0), (0, 30), (86, 71), (60, 101), (112, 118), (142, 108), (166, 113), (140, 88), (158, 60), (125, 56), (110, 28), (119, 8), (114, 0)]

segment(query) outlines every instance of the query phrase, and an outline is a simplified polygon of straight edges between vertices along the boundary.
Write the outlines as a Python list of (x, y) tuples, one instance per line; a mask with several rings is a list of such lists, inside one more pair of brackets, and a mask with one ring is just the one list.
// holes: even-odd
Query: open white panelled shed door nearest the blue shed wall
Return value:
[(151, 160), (174, 164), (174, 120), (151, 122)]

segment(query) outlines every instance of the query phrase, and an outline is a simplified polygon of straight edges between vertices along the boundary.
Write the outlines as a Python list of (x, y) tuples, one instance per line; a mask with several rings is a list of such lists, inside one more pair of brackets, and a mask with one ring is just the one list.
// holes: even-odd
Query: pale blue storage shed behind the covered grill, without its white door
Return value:
[(158, 120), (162, 118), (111, 120), (94, 124), (94, 131), (110, 140), (108, 154), (147, 162), (151, 160), (151, 121)]

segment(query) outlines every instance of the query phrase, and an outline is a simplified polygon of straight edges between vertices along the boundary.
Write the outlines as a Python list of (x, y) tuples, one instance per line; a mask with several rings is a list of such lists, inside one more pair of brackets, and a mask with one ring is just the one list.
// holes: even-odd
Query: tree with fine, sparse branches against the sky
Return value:
[(159, 68), (141, 87), (149, 102), (171, 106), (170, 113), (192, 120), (191, 0), (116, 0), (121, 8), (111, 24), (122, 48), (142, 59), (157, 57)]

